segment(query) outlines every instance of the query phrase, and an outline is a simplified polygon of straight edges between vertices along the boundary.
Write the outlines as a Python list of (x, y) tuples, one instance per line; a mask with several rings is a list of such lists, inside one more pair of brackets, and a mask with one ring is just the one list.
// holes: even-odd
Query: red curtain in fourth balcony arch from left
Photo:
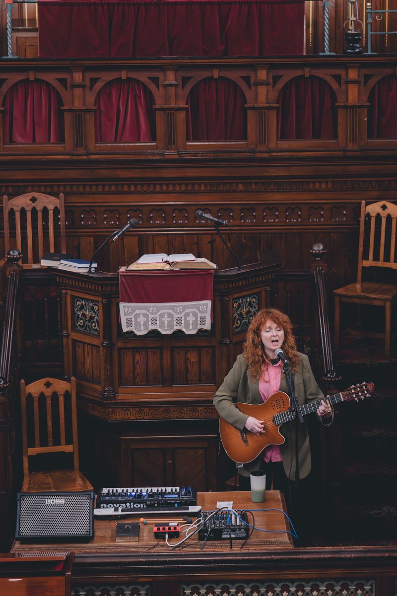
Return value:
[(277, 103), (279, 139), (335, 139), (336, 95), (324, 79), (299, 76), (280, 91)]

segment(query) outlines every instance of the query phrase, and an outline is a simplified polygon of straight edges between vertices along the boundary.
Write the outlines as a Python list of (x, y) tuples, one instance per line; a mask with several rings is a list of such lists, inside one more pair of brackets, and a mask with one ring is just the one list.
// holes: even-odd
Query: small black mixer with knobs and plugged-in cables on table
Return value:
[[(214, 514), (214, 515), (212, 515)], [(245, 540), (248, 538), (249, 526), (246, 511), (202, 511), (203, 520), (198, 532), (199, 540)]]

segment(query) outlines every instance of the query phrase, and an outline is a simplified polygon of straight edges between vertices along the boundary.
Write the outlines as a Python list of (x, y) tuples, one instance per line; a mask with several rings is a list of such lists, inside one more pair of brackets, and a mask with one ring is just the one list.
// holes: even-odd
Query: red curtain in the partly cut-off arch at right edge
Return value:
[(370, 92), (368, 102), (368, 138), (397, 138), (397, 77), (380, 79)]

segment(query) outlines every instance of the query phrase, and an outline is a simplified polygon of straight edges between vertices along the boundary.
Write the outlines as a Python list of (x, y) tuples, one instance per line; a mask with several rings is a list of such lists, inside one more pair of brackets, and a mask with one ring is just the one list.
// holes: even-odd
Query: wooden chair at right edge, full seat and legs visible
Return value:
[[(370, 225), (365, 220), (370, 218)], [(334, 290), (334, 344), (339, 348), (340, 303), (382, 306), (385, 309), (385, 333), (354, 331), (355, 335), (385, 338), (385, 355), (390, 356), (392, 308), (396, 302), (397, 285), (361, 281), (363, 267), (397, 269), (396, 263), (397, 206), (379, 201), (365, 206), (361, 202), (360, 241), (358, 245), (357, 282)], [(369, 227), (369, 230), (368, 230)]]

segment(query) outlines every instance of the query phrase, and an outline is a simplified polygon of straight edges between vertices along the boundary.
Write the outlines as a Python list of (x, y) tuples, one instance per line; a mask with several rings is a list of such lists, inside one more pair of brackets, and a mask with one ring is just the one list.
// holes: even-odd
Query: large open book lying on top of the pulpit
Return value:
[(161, 271), (179, 271), (180, 269), (217, 269), (218, 266), (204, 257), (195, 257), (192, 253), (183, 254), (143, 254), (126, 271), (147, 271), (160, 269)]

